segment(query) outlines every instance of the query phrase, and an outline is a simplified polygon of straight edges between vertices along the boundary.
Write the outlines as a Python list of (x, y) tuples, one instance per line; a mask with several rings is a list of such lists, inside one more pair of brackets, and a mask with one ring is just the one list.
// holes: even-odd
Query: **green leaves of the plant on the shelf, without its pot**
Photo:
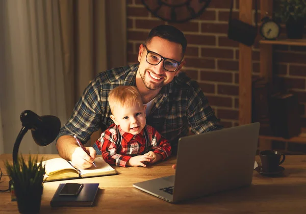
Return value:
[(275, 17), (283, 22), (306, 18), (306, 0), (275, 0), (274, 6)]

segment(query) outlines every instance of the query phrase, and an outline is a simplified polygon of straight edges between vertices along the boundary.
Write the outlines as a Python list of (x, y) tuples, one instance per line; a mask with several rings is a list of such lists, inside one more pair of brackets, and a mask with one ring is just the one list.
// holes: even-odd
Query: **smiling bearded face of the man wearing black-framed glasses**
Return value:
[[(154, 37), (146, 44), (149, 51), (158, 53), (160, 56), (180, 62), (182, 60), (182, 45), (170, 42), (160, 37)], [(165, 70), (162, 60), (158, 65), (151, 65), (146, 61), (147, 50), (144, 45), (140, 45), (138, 53), (139, 74), (144, 86), (149, 90), (157, 90), (170, 83), (174, 76), (179, 74), (185, 64), (181, 62), (176, 71)]]

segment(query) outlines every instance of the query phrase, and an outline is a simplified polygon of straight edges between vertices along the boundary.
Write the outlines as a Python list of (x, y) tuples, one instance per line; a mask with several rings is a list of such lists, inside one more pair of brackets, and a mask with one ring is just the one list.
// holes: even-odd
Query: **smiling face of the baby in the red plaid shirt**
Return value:
[(144, 128), (146, 106), (116, 106), (113, 112), (113, 121), (120, 125), (123, 131), (137, 135)]

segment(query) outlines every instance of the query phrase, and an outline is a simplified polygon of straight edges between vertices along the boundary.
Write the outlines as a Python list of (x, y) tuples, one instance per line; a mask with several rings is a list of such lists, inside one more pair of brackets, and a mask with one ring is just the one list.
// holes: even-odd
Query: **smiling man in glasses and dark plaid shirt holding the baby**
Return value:
[(177, 140), (188, 135), (189, 128), (197, 134), (221, 128), (197, 83), (180, 73), (185, 65), (186, 46), (186, 38), (180, 30), (171, 25), (159, 25), (139, 46), (139, 65), (99, 73), (60, 130), (56, 144), (59, 155), (72, 161), (77, 168), (92, 165), (95, 150), (86, 147), (90, 153), (87, 155), (72, 136), (77, 135), (86, 142), (93, 131), (112, 124), (108, 94), (120, 85), (138, 88), (143, 103), (147, 105), (147, 124), (171, 142), (174, 152)]

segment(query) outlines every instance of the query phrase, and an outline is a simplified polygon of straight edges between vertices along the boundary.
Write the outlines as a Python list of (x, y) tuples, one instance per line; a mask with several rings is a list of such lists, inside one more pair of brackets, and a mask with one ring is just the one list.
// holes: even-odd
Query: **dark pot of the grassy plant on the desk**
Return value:
[(39, 213), (43, 188), (20, 190), (15, 188), (18, 210), (20, 213)]

